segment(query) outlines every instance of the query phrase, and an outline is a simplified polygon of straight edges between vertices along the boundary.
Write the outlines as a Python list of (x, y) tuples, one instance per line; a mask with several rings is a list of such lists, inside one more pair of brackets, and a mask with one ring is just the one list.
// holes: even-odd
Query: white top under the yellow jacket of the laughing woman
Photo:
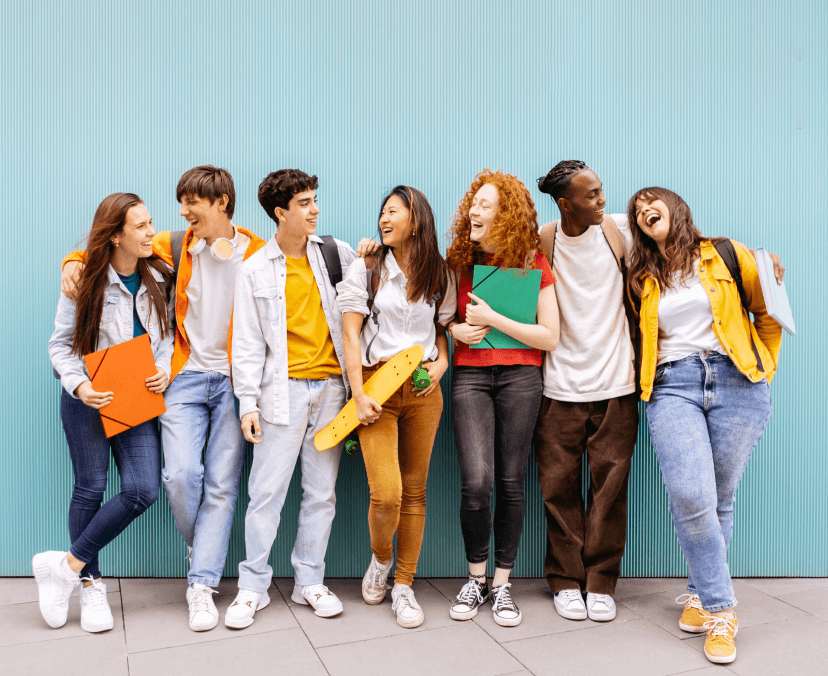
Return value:
[[(675, 273), (678, 279), (680, 273)], [(698, 352), (727, 354), (713, 332), (713, 309), (699, 279), (699, 262), (693, 276), (672, 289), (662, 290), (658, 301), (658, 363), (689, 357)]]

